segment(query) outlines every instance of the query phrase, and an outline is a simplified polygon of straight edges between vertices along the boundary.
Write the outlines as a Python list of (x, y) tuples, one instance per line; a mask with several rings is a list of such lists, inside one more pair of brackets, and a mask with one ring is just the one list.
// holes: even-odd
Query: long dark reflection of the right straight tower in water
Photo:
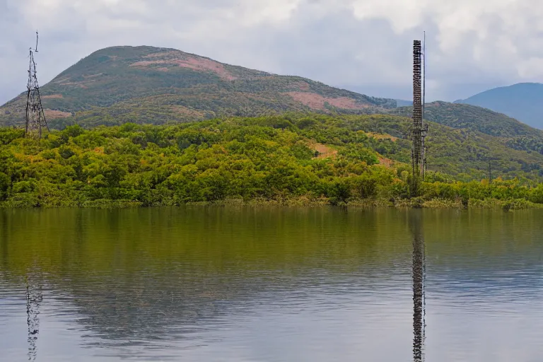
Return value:
[(413, 361), (424, 361), (424, 332), (426, 328), (426, 303), (424, 279), (426, 253), (422, 233), (422, 213), (414, 211), (409, 220), (413, 233)]

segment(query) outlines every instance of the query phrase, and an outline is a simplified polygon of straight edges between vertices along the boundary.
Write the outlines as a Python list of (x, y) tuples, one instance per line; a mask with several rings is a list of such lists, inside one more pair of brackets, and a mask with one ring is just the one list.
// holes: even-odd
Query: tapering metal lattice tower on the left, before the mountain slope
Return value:
[(30, 47), (30, 66), (28, 66), (28, 84), (26, 86), (26, 135), (35, 139), (42, 138), (42, 127), (49, 131), (45, 113), (43, 112), (42, 100), (40, 98), (40, 86), (37, 84), (36, 63), (34, 62), (34, 53), (37, 53), (38, 34), (36, 32), (36, 47), (33, 50)]

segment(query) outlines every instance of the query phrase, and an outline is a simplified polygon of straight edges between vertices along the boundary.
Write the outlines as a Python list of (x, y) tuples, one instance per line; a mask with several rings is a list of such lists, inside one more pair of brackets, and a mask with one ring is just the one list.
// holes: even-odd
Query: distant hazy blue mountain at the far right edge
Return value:
[(518, 83), (473, 95), (455, 103), (489, 108), (543, 129), (543, 84)]

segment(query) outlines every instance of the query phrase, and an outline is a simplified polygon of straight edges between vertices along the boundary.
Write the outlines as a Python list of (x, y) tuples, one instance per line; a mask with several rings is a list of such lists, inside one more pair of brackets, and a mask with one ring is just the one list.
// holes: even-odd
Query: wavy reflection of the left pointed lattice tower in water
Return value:
[(25, 277), (26, 284), (26, 322), (28, 325), (28, 361), (35, 361), (37, 356), (37, 335), (40, 333), (40, 303), (42, 287), (33, 274)]

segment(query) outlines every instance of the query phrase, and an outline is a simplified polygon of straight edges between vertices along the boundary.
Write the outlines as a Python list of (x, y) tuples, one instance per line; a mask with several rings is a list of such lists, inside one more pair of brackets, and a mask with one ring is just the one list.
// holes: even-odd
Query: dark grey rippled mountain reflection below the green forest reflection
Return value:
[[(95, 279), (52, 281), (69, 296), (76, 322), (98, 338), (83, 339), (86, 346), (153, 348), (194, 345), (233, 316), (244, 316), (259, 305), (288, 305), (303, 293), (322, 292), (322, 283), (303, 273), (286, 277), (281, 272), (222, 271), (214, 274), (197, 267), (176, 267), (169, 273), (157, 270)], [(307, 271), (312, 273), (313, 271)], [(66, 303), (62, 305), (66, 308)], [(131, 354), (134, 351), (131, 351)], [(123, 352), (124, 353), (124, 352)]]

